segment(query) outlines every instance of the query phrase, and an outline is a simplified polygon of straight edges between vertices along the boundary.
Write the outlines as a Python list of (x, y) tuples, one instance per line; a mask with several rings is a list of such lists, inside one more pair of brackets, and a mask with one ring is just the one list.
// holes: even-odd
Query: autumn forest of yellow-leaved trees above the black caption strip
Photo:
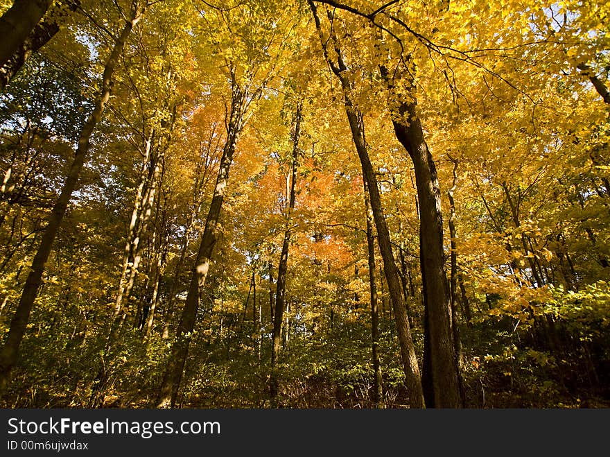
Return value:
[(0, 15), (0, 407), (610, 407), (610, 1)]

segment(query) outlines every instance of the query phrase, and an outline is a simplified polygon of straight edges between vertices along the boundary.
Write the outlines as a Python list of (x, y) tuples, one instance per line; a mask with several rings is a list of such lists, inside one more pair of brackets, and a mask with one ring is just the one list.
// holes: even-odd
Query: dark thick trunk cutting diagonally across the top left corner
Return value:
[(40, 22), (53, 0), (15, 0), (0, 17), (0, 67), (17, 52)]

